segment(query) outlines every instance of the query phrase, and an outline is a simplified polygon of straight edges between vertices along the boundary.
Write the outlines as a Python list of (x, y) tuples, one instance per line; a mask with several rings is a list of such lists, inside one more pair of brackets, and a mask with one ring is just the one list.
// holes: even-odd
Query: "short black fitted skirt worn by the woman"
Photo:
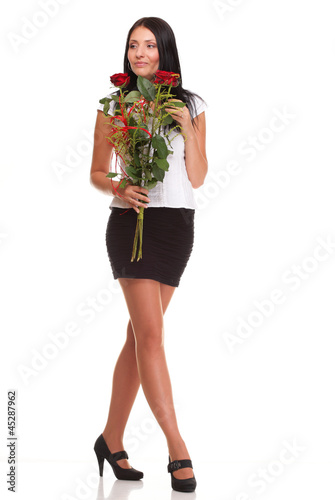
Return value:
[(106, 246), (114, 278), (147, 278), (177, 287), (193, 248), (194, 214), (191, 208), (146, 208), (142, 259), (131, 262), (137, 213), (112, 207)]

